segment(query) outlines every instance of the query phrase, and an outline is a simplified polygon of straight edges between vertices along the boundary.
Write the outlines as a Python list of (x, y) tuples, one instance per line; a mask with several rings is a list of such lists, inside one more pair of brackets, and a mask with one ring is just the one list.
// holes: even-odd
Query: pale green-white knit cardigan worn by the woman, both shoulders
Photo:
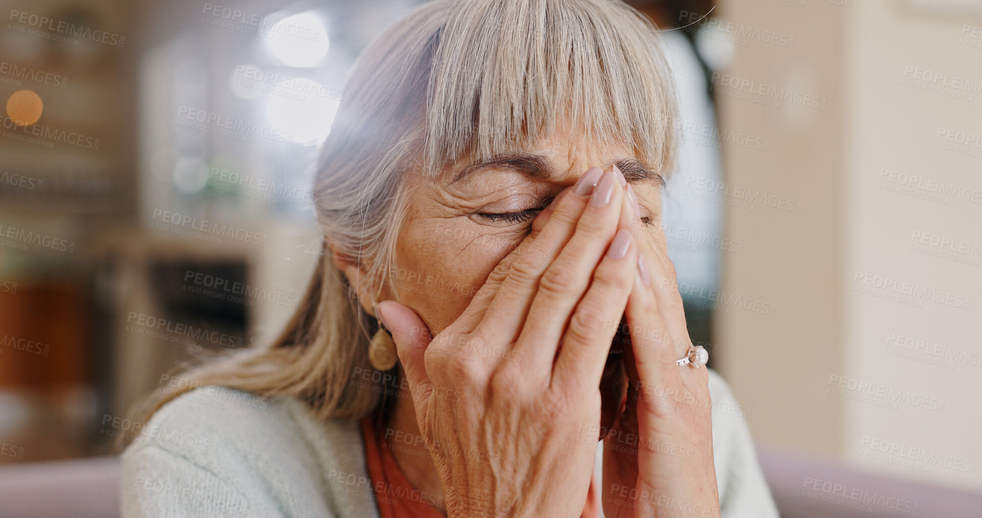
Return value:
[[(723, 516), (777, 518), (746, 410), (718, 374), (709, 388)], [(319, 422), (298, 400), (200, 387), (142, 433), (123, 454), (124, 518), (378, 517), (357, 424)]]

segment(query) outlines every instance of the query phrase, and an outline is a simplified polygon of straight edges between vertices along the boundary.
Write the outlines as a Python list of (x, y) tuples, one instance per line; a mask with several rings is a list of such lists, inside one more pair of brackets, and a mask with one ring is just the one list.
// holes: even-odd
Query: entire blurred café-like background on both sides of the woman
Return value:
[[(0, 516), (115, 516), (128, 407), (277, 332), (346, 73), (418, 3), (219, 1), (0, 1)], [(690, 333), (782, 515), (982, 516), (982, 3), (628, 3)]]

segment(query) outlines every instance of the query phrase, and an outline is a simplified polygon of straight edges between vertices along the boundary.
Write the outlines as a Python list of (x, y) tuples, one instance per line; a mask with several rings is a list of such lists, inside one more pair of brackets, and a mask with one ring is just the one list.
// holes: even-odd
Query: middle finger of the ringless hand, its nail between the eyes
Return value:
[(613, 168), (604, 172), (576, 222), (573, 236), (542, 274), (516, 344), (516, 354), (529, 362), (533, 370), (553, 365), (573, 309), (587, 291), (594, 270), (617, 233), (626, 206), (619, 174)]

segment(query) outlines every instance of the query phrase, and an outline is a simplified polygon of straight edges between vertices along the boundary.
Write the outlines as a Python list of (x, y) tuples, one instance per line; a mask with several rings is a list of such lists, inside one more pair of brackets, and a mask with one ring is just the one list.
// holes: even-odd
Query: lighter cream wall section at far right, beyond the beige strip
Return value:
[[(843, 453), (870, 470), (978, 490), (982, 6), (933, 5), (857, 2), (847, 17), (842, 372), (910, 396), (896, 411), (846, 404)], [(871, 447), (885, 449), (874, 441), (911, 462), (870, 459)]]

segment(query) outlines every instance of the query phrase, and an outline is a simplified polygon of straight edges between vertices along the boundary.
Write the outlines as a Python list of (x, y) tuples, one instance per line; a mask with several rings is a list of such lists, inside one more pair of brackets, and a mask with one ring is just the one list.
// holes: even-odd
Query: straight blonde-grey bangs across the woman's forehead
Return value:
[(605, 0), (451, 0), (427, 88), (425, 168), (487, 159), (570, 125), (597, 146), (628, 145), (665, 172), (671, 75), (657, 33)]

